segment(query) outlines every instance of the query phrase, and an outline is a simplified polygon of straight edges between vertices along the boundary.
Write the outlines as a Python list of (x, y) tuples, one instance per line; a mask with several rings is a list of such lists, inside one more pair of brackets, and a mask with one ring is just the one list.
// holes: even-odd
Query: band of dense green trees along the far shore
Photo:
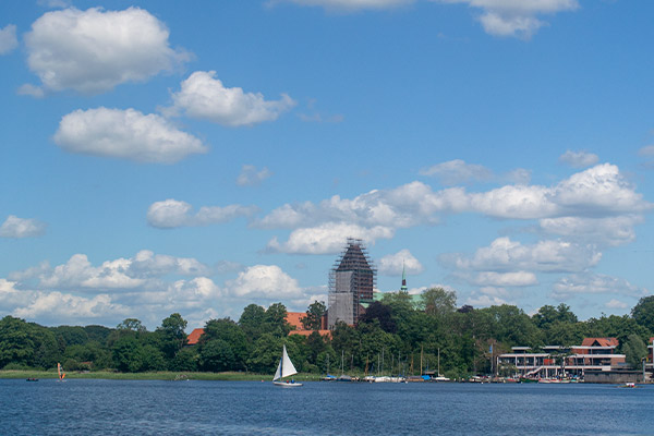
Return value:
[(570, 307), (544, 305), (533, 316), (514, 305), (457, 307), (453, 291), (434, 288), (419, 299), (385, 293), (355, 326), (338, 323), (320, 336), (326, 307), (314, 302), (302, 319), (308, 336), (289, 335), (281, 303), (250, 304), (238, 320), (209, 319), (195, 346), (187, 346), (186, 320), (171, 314), (154, 331), (128, 318), (116, 328), (98, 325), (44, 327), (5, 316), (0, 320), (0, 367), (120, 372), (254, 372), (271, 374), (286, 343), (301, 372), (420, 374), (449, 377), (491, 372), (492, 356), (528, 346), (581, 344), (585, 337), (616, 337), (617, 352), (634, 367), (654, 336), (654, 295), (642, 298), (630, 315), (579, 320)]

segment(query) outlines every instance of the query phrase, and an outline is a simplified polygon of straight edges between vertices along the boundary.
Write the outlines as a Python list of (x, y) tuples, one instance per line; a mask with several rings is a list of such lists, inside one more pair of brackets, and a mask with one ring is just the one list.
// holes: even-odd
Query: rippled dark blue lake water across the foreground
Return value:
[(0, 379), (0, 435), (654, 435), (654, 386)]

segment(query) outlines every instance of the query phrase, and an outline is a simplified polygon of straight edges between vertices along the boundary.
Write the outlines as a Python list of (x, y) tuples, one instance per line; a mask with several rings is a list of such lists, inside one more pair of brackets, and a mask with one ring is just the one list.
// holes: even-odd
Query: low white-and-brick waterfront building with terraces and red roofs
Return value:
[(531, 352), (530, 347), (512, 347), (510, 353), (497, 356), (497, 364), (512, 367), (516, 375), (534, 378), (623, 370), (626, 355), (615, 352), (618, 346), (616, 338), (585, 338), (581, 346), (548, 346), (540, 352)]

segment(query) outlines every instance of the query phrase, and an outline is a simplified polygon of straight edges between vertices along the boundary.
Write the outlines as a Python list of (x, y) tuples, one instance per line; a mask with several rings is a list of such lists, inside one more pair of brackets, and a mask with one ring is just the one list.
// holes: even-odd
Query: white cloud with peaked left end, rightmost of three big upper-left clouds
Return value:
[(191, 74), (182, 82), (181, 90), (172, 94), (173, 107), (165, 109), (165, 112), (183, 112), (186, 117), (234, 128), (274, 121), (295, 106), (295, 101), (286, 94), (276, 101), (265, 100), (259, 93), (227, 88), (215, 76), (215, 71)]

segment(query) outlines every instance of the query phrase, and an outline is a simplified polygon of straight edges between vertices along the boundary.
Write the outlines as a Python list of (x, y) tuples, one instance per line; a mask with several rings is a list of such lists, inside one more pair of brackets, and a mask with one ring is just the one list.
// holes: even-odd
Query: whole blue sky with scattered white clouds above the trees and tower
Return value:
[(0, 311), (149, 328), (379, 291), (625, 314), (654, 286), (654, 4), (0, 3)]

